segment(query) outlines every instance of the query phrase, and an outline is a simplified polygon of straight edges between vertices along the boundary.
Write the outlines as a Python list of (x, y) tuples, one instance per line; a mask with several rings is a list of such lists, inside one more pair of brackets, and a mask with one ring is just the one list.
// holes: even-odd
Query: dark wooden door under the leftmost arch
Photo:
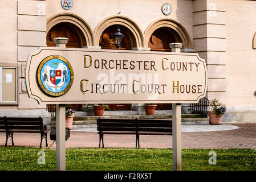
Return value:
[[(76, 33), (74, 28), (71, 28), (65, 24), (57, 24), (56, 26), (52, 27), (51, 30), (48, 32), (46, 37), (48, 47), (56, 47), (56, 44), (54, 43), (54, 38), (68, 38), (66, 47), (81, 48), (79, 35)], [(71, 105), (71, 109), (74, 109), (76, 111), (81, 111), (82, 107), (82, 104)]]

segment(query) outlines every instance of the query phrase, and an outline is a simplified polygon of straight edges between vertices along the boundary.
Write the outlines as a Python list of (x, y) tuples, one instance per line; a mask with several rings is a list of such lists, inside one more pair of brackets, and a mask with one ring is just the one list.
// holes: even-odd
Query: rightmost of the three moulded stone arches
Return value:
[(180, 36), (180, 39), (182, 40), (181, 43), (183, 44), (183, 48), (186, 48), (186, 49), (192, 48), (192, 43), (186, 29), (175, 20), (167, 19), (167, 18), (156, 20), (155, 22), (151, 23), (148, 26), (148, 28), (145, 30), (145, 33), (144, 33), (145, 47), (148, 47), (148, 41), (149, 41), (149, 38), (151, 38), (151, 35), (153, 34), (153, 32), (162, 27), (170, 28), (171, 30), (175, 31), (177, 35)]

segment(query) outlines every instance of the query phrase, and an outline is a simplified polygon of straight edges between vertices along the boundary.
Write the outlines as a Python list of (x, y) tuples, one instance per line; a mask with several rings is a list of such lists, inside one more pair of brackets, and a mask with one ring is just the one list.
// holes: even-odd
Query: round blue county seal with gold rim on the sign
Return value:
[(71, 88), (74, 73), (71, 64), (64, 57), (52, 55), (39, 64), (37, 80), (43, 92), (59, 97)]

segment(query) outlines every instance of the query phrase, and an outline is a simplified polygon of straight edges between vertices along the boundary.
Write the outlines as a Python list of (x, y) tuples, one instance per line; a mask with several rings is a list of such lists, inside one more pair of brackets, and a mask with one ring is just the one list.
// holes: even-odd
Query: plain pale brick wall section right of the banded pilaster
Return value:
[(256, 1), (227, 1), (227, 93), (228, 105), (256, 105)]

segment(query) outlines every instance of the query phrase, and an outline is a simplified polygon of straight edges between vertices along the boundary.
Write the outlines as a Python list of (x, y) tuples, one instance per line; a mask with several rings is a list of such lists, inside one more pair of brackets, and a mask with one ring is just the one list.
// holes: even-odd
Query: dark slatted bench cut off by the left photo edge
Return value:
[(7, 146), (8, 139), (11, 137), (12, 146), (13, 142), (13, 133), (40, 133), (41, 142), (40, 148), (42, 147), (43, 138), (46, 139), (47, 143), (47, 133), (46, 125), (43, 125), (43, 118), (17, 118), (17, 117), (2, 117), (0, 118), (0, 131), (6, 133), (6, 143)]

